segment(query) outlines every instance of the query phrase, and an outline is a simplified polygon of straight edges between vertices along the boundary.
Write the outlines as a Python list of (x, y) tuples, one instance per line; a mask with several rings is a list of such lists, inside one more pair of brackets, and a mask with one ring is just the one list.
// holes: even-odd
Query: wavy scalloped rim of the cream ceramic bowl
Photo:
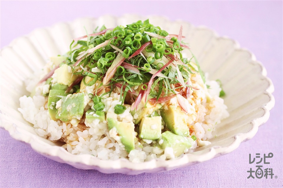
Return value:
[[(124, 16), (129, 16), (129, 15), (124, 15)], [(121, 17), (112, 16), (113, 19), (118, 19), (122, 17), (123, 16)], [(163, 19), (164, 21), (168, 21), (167, 18), (162, 17), (162, 16), (155, 16), (155, 17), (157, 17), (158, 19)], [(178, 20), (178, 22), (183, 23), (183, 24), (188, 24), (188, 22), (185, 22), (185, 21)], [(63, 22), (63, 23), (70, 24), (72, 22)], [(51, 27), (47, 27), (47, 28), (51, 28)], [(202, 28), (205, 30), (213, 31), (205, 26), (200, 26), (197, 28)], [(31, 34), (32, 33), (30, 33), (29, 35)], [(164, 160), (157, 159), (157, 160), (151, 160), (151, 161), (142, 162), (142, 163), (133, 163), (126, 159), (100, 160), (100, 159), (97, 159), (96, 157), (93, 157), (92, 155), (86, 155), (86, 154), (73, 155), (69, 153), (68, 151), (66, 151), (64, 148), (60, 146), (56, 146), (56, 145), (50, 145), (46, 143), (44, 139), (39, 139), (38, 136), (33, 135), (27, 130), (24, 130), (22, 122), (13, 121), (13, 120), (11, 121), (11, 119), (9, 118), (9, 115), (6, 115), (3, 112), (3, 110), (0, 110), (1, 127), (4, 127), (4, 129), (7, 130), (9, 134), (11, 135), (11, 137), (13, 137), (14, 139), (28, 143), (29, 145), (31, 145), (33, 150), (35, 150), (36, 152), (52, 160), (55, 160), (57, 162), (67, 163), (67, 164), (72, 165), (73, 167), (80, 168), (80, 169), (96, 169), (103, 173), (119, 172), (123, 174), (140, 174), (143, 172), (151, 172), (151, 173), (163, 172), (163, 171), (172, 170), (178, 167), (187, 167), (193, 164), (197, 164), (200, 162), (210, 160), (220, 155), (230, 153), (236, 148), (238, 148), (241, 142), (244, 142), (254, 137), (254, 135), (258, 131), (258, 127), (264, 124), (268, 120), (269, 111), (274, 107), (274, 103), (275, 103), (274, 97), (272, 95), (274, 91), (274, 85), (272, 81), (266, 77), (266, 74), (267, 74), (266, 69), (260, 62), (256, 61), (254, 54), (252, 54), (250, 51), (246, 49), (240, 48), (239, 44), (236, 41), (228, 37), (219, 37), (215, 31), (213, 31), (213, 37), (217, 39), (224, 38), (224, 39), (230, 40), (234, 43), (235, 49), (240, 49), (240, 50), (249, 52), (251, 56), (250, 60), (256, 62), (257, 65), (261, 67), (261, 75), (269, 83), (269, 87), (265, 90), (265, 94), (269, 96), (270, 100), (268, 103), (261, 106), (261, 108), (264, 110), (264, 114), (261, 117), (255, 118), (254, 120), (250, 122), (252, 123), (252, 128), (251, 130), (249, 130), (249, 132), (240, 133), (240, 134), (236, 134), (235, 136), (233, 136), (234, 140), (231, 143), (231, 145), (228, 145), (226, 147), (214, 146), (214, 147), (209, 148), (209, 150), (207, 150), (205, 153), (201, 155), (189, 153), (189, 154), (182, 155), (172, 160), (164, 161)], [(19, 38), (14, 39), (8, 46), (4, 48), (13, 46), (13, 44), (18, 39)], [(1, 49), (1, 52), (2, 52), (2, 49)], [(2, 107), (3, 106), (1, 106), (1, 108)], [(29, 123), (27, 122), (26, 124), (29, 124)]]

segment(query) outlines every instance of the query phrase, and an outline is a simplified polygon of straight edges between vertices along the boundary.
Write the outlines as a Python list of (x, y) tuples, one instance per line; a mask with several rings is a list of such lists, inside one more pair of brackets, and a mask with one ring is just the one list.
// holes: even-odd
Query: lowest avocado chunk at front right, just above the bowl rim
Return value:
[(175, 135), (173, 132), (170, 131), (163, 132), (161, 134), (161, 140), (161, 147), (164, 150), (166, 147), (171, 147), (173, 149), (175, 157), (178, 157), (182, 153), (186, 152), (186, 150), (190, 149), (190, 147), (192, 146), (192, 139)]

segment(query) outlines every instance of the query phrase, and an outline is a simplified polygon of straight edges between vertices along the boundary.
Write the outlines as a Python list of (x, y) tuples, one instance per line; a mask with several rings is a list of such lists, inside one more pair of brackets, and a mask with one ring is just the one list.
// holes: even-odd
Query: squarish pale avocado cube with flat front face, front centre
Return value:
[(144, 117), (139, 125), (139, 137), (157, 140), (161, 137), (161, 116)]

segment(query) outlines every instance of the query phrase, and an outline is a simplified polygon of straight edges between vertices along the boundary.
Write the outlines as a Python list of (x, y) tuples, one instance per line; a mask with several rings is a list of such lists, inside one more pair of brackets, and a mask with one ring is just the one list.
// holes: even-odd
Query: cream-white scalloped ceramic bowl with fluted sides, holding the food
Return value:
[(251, 52), (239, 48), (229, 38), (218, 37), (208, 28), (182, 21), (172, 22), (158, 16), (150, 16), (150, 22), (169, 33), (178, 33), (180, 25), (183, 26), (184, 41), (189, 42), (203, 71), (209, 73), (211, 80), (222, 81), (230, 117), (217, 126), (213, 132), (217, 137), (209, 140), (211, 145), (199, 147), (195, 152), (174, 160), (133, 164), (125, 159), (99, 160), (92, 155), (72, 155), (34, 132), (32, 125), (17, 110), (19, 98), (29, 94), (23, 80), (42, 68), (50, 56), (66, 53), (73, 38), (85, 35), (84, 26), (91, 33), (103, 24), (113, 28), (145, 19), (135, 15), (76, 19), (70, 23), (36, 29), (1, 49), (1, 127), (9, 131), (14, 139), (29, 143), (36, 152), (52, 160), (79, 169), (123, 174), (162, 172), (190, 166), (232, 152), (241, 142), (251, 139), (258, 127), (268, 120), (269, 111), (274, 106), (274, 86), (266, 77), (266, 69)]

